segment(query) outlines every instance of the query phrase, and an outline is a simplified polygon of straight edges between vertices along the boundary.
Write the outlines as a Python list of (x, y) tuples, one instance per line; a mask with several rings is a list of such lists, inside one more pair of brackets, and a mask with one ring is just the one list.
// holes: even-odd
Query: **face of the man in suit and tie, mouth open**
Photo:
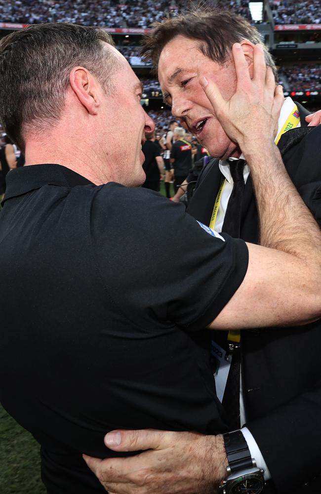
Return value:
[(202, 76), (214, 81), (223, 97), (230, 99), (236, 91), (234, 64), (213, 62), (199, 46), (200, 41), (181, 35), (164, 46), (158, 66), (164, 99), (171, 105), (172, 114), (197, 136), (211, 156), (238, 157), (240, 150), (224, 132), (199, 82)]

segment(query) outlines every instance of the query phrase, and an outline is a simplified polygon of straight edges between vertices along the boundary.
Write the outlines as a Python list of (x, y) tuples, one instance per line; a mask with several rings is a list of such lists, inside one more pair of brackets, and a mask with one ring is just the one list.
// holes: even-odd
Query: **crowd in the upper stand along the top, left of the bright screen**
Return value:
[[(251, 20), (247, 0), (210, 0)], [(193, 2), (187, 0), (0, 0), (0, 22), (72, 22), (109, 28), (148, 28), (163, 16), (175, 15)]]

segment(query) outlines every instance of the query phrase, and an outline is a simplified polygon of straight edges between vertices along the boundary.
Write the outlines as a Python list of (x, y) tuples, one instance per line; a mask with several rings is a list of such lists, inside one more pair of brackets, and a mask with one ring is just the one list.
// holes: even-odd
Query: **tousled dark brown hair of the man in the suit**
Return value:
[[(157, 69), (164, 46), (178, 35), (200, 41), (200, 51), (214, 62), (224, 65), (229, 61), (234, 43), (242, 40), (253, 44), (262, 42), (257, 29), (244, 17), (220, 8), (198, 8), (186, 14), (154, 22), (144, 35), (142, 56), (152, 61)], [(275, 63), (264, 46), (266, 64), (277, 75)]]

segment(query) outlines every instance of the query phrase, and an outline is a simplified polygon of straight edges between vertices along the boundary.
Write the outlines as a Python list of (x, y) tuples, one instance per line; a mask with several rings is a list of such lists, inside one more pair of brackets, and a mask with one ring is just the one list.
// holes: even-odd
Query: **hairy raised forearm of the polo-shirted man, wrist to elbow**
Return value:
[(262, 148), (259, 153), (244, 149), (258, 206), (260, 244), (320, 266), (319, 226), (291, 182), (279, 149), (273, 144), (264, 153)]

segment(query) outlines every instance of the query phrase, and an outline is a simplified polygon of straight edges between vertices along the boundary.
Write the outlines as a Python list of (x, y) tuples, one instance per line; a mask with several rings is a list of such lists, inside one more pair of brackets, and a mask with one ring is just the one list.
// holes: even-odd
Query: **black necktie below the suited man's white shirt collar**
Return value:
[(244, 164), (244, 160), (230, 161), (230, 170), (234, 185), (222, 226), (223, 233), (227, 233), (236, 239), (240, 238), (241, 229), (241, 206), (244, 192)]

